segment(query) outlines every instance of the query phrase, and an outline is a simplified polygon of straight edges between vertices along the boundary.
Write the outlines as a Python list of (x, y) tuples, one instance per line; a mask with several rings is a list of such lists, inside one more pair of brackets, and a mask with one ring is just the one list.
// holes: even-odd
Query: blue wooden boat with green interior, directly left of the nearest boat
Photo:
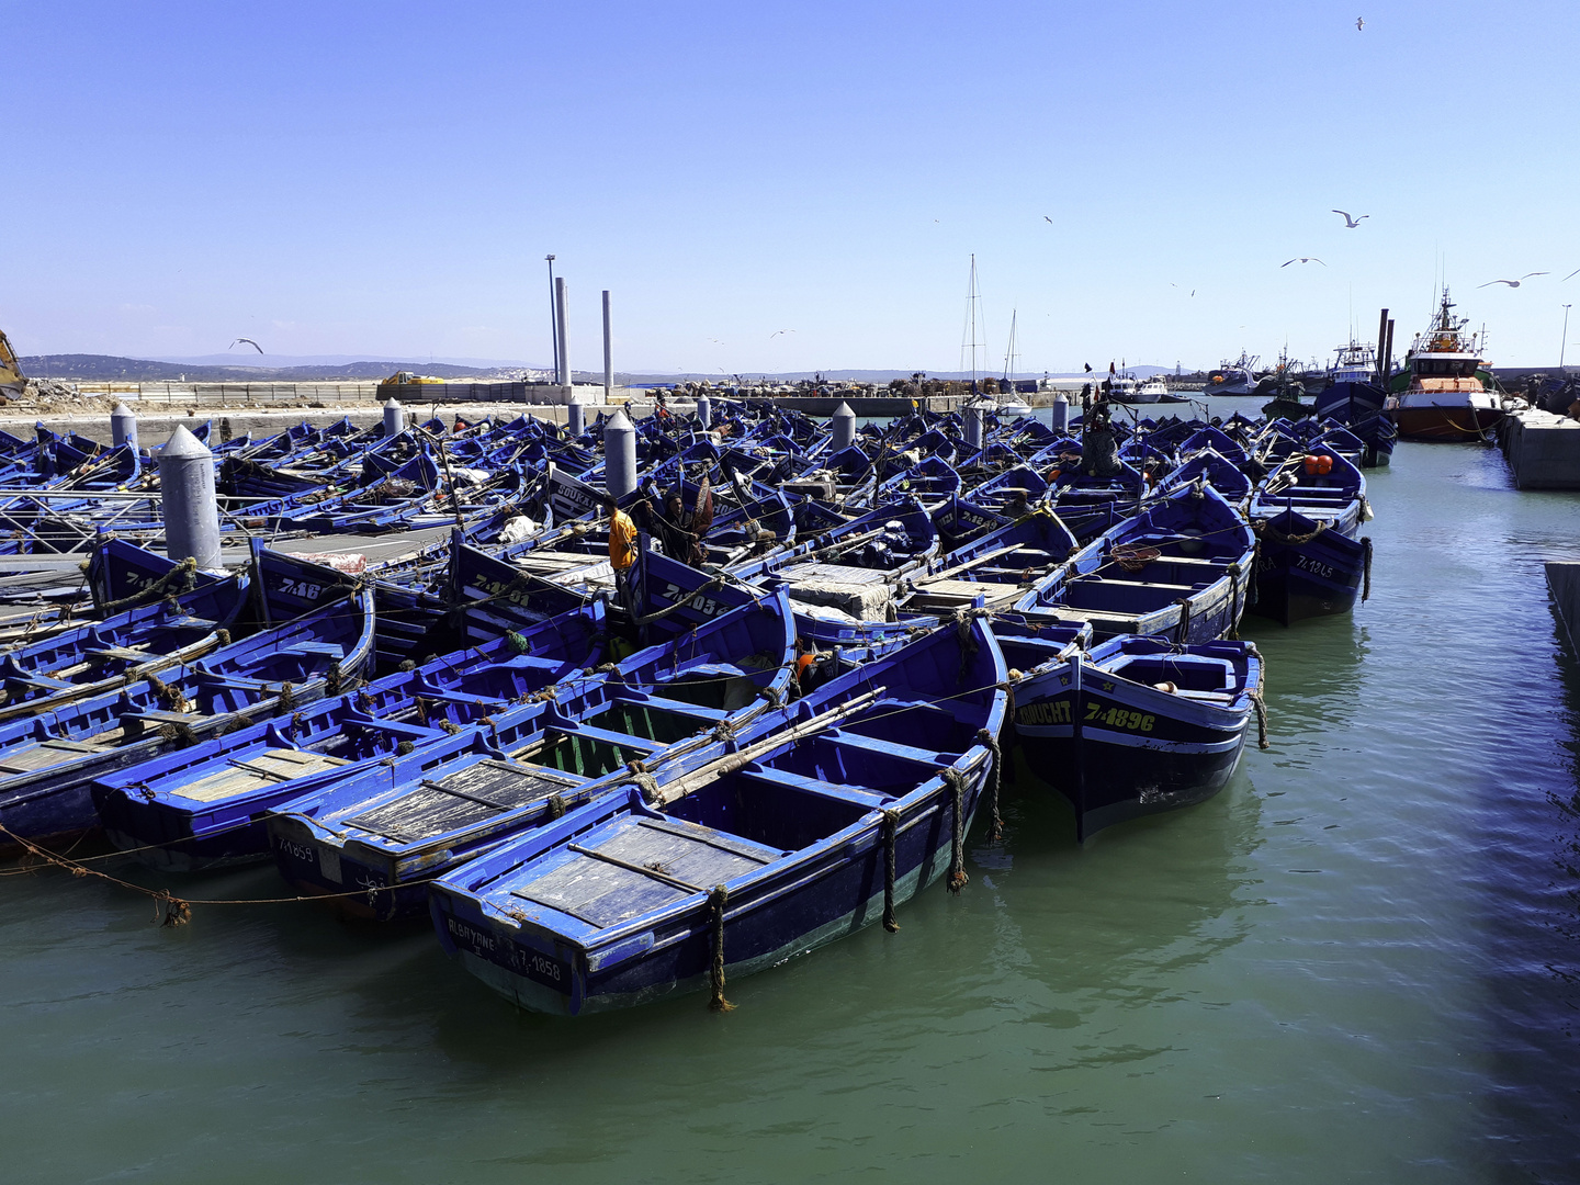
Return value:
[(357, 916), (414, 916), (431, 877), (607, 792), (610, 774), (705, 760), (709, 744), (784, 702), (793, 659), (781, 591), (611, 672), (561, 681), (553, 695), (496, 717), (490, 739), (507, 735), (491, 750), (431, 769), (409, 760), (359, 769), (278, 806), (265, 818), (275, 863), (303, 893), (367, 890), (335, 897)]

